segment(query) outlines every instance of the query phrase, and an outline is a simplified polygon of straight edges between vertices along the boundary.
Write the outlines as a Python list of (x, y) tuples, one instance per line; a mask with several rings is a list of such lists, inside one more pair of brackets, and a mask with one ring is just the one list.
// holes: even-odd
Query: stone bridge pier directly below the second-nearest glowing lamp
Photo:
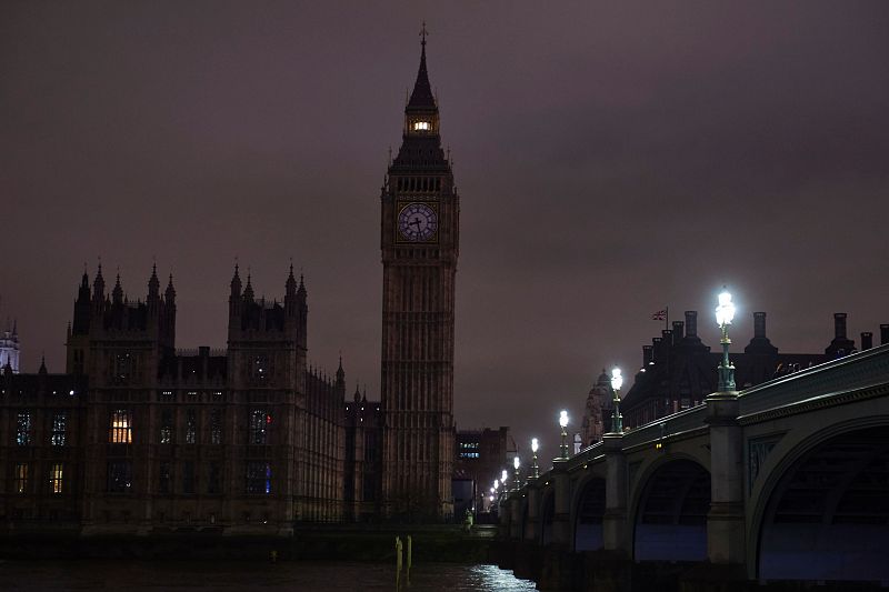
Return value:
[(602, 542), (606, 551), (629, 559), (632, 558), (632, 549), (627, 524), (627, 456), (622, 445), (623, 434), (607, 433), (602, 437), (606, 458)]

